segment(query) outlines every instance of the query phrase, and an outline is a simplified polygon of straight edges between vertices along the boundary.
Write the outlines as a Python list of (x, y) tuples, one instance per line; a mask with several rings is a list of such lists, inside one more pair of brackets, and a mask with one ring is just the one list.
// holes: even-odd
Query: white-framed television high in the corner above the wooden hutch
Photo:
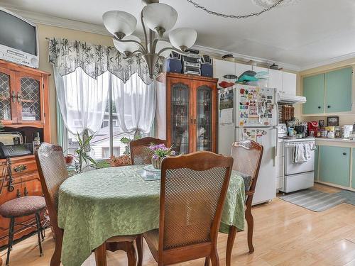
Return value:
[(38, 51), (37, 26), (0, 7), (0, 59), (38, 68)]

